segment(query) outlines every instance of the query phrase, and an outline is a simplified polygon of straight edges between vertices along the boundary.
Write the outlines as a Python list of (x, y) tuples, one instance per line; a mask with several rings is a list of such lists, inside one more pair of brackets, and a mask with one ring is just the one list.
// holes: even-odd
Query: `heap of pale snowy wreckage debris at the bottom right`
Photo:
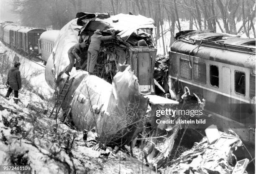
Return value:
[[(210, 131), (215, 130), (210, 129)], [(243, 174), (249, 160), (237, 161), (233, 154), (237, 147), (243, 145), (241, 139), (230, 130), (229, 134), (220, 132), (218, 139), (210, 144), (211, 136), (215, 135), (208, 134), (199, 143), (195, 142), (190, 150), (183, 152), (179, 158), (170, 161), (167, 164), (170, 164), (169, 167), (160, 169), (162, 173)]]

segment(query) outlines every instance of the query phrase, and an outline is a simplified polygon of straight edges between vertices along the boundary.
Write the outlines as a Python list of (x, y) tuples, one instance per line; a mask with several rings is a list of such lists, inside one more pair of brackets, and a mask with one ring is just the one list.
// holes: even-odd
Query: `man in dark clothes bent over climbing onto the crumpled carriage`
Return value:
[(75, 59), (77, 67), (80, 69), (81, 68), (81, 63), (82, 59), (84, 58), (84, 52), (87, 44), (82, 42), (82, 43), (77, 43), (68, 50), (68, 55), (69, 55), (69, 65), (66, 67), (65, 73), (69, 75), (69, 72), (71, 72), (73, 66), (74, 66), (74, 61)]

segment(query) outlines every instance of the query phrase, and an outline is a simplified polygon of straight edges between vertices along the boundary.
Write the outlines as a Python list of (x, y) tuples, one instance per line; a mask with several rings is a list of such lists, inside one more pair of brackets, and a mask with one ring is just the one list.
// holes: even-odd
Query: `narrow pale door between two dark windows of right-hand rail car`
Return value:
[(222, 106), (224, 108), (223, 116), (230, 117), (231, 112), (231, 70), (228, 67), (222, 67), (222, 86), (224, 95), (222, 98)]

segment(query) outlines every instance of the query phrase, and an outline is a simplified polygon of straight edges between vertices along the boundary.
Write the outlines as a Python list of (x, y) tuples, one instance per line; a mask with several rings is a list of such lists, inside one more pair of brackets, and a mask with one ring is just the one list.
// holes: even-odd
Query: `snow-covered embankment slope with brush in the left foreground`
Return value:
[(0, 165), (28, 165), (36, 174), (155, 174), (122, 151), (111, 156), (111, 148), (87, 147), (90, 134), (84, 141), (81, 131), (56, 126), (49, 112), (44, 114), (47, 101), (36, 94), (21, 91), (17, 105), (4, 98), (6, 91), (1, 85)]

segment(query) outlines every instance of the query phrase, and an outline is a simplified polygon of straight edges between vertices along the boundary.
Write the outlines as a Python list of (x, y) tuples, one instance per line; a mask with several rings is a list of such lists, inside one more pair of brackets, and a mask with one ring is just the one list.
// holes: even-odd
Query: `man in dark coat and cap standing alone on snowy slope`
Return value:
[(21, 88), (21, 78), (20, 78), (20, 63), (15, 63), (14, 67), (10, 69), (8, 72), (7, 83), (8, 91), (6, 93), (5, 98), (8, 98), (12, 91), (14, 91), (14, 102), (18, 103), (18, 91)]

